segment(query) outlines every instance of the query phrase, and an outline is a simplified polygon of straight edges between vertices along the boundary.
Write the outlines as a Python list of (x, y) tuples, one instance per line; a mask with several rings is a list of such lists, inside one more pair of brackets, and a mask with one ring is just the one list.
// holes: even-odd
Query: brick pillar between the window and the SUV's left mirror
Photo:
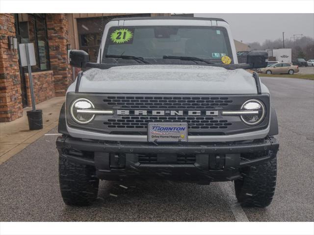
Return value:
[(69, 44), (68, 21), (66, 14), (47, 14), (46, 21), (55, 96), (63, 96), (72, 83), (67, 53), (67, 44)]

